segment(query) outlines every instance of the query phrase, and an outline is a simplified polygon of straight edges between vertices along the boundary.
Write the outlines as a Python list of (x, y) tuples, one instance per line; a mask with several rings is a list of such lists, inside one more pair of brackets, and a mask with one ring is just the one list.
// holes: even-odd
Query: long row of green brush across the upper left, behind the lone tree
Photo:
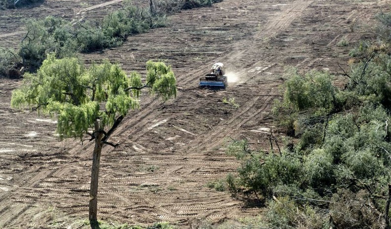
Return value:
[(83, 21), (71, 23), (49, 16), (42, 20), (28, 20), (27, 33), (19, 49), (0, 47), (0, 75), (20, 77), (25, 71), (34, 72), (48, 53), (56, 58), (72, 57), (77, 53), (89, 53), (121, 45), (128, 36), (146, 33), (153, 28), (164, 27), (167, 15), (177, 9), (210, 5), (220, 0), (172, 0), (150, 1), (149, 8), (132, 5), (124, 0), (124, 7), (109, 13), (101, 22)]

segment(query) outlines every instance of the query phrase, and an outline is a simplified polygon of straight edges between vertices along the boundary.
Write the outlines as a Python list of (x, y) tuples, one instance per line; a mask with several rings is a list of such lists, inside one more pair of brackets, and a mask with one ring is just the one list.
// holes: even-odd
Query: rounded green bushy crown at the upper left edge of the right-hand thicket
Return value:
[[(318, 129), (327, 114), (339, 109), (343, 102), (336, 96), (339, 90), (333, 86), (332, 77), (320, 71), (300, 75), (294, 68), (288, 69), (286, 74), (289, 78), (283, 86), (284, 98), (275, 100), (272, 108), (277, 123), (291, 136), (305, 133), (307, 127)], [(299, 113), (303, 112), (306, 112), (305, 118), (298, 120)]]

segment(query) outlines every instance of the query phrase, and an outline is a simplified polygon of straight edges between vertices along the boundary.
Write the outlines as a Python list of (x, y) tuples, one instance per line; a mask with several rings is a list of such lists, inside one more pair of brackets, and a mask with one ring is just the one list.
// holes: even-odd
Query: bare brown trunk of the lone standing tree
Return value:
[(99, 229), (97, 210), (98, 210), (98, 178), (99, 164), (101, 161), (103, 132), (99, 130), (98, 121), (95, 122), (95, 148), (92, 156), (91, 186), (90, 186), (90, 204), (88, 219), (91, 229)]

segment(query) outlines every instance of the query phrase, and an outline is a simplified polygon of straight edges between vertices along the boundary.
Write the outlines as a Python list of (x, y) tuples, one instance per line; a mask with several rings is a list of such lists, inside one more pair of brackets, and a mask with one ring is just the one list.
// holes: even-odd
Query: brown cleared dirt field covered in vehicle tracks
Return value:
[[(47, 0), (32, 8), (0, 11), (0, 45), (17, 46), (22, 19), (48, 15), (99, 19), (120, 0)], [(147, 0), (134, 0), (145, 4)], [(199, 221), (254, 216), (251, 200), (217, 192), (208, 181), (235, 172), (226, 144), (247, 138), (270, 149), (270, 109), (281, 98), (284, 67), (342, 72), (361, 23), (373, 23), (388, 0), (223, 0), (182, 11), (167, 27), (128, 38), (123, 46), (83, 55), (86, 64), (109, 59), (130, 72), (144, 72), (149, 59), (172, 65), (178, 97), (166, 103), (144, 96), (102, 152), (98, 217), (149, 225), (169, 221), (191, 228)], [(358, 28), (358, 29), (357, 29)], [(346, 37), (349, 45), (337, 47)], [(199, 77), (214, 62), (227, 67), (226, 90), (199, 89)], [(59, 141), (56, 124), (36, 113), (9, 108), (19, 80), (0, 78), (0, 228), (46, 228), (88, 217), (93, 145)], [(223, 103), (234, 98), (239, 105)], [(282, 144), (281, 136), (278, 136)], [(67, 228), (64, 226), (64, 228)], [(76, 228), (76, 227), (73, 227)]]

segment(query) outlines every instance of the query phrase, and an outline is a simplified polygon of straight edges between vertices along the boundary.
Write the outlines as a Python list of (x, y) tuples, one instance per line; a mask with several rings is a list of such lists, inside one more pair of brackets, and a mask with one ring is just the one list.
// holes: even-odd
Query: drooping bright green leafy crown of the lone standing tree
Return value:
[[(133, 97), (139, 93), (127, 90), (140, 86), (141, 79), (135, 79), (138, 76), (133, 74), (130, 79), (118, 65), (107, 61), (85, 69), (76, 58), (56, 59), (49, 55), (36, 74), (25, 74), (23, 86), (12, 93), (11, 106), (27, 106), (52, 117), (57, 115), (60, 137), (82, 137), (97, 121), (100, 130), (104, 130), (118, 116), (139, 107), (138, 99)], [(176, 82), (175, 77), (171, 82)], [(176, 92), (175, 84), (167, 87)], [(158, 92), (164, 93), (159, 95), (167, 99), (173, 96), (172, 91)]]

